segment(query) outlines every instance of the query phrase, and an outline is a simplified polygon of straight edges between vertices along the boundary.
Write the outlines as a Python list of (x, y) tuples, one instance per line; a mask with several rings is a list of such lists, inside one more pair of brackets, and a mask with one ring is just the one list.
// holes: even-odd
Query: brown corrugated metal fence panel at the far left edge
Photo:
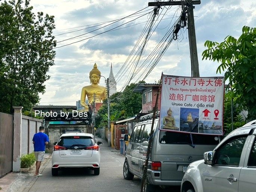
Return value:
[(13, 115), (0, 112), (0, 177), (12, 171)]

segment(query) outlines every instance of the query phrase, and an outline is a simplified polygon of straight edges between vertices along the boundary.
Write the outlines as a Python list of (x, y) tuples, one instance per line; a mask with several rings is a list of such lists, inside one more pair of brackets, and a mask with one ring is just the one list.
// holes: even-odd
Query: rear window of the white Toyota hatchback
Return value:
[(87, 136), (68, 136), (68, 137), (61, 137), (58, 142), (59, 146), (65, 148), (72, 148), (72, 146), (80, 145), (84, 147), (93, 146), (94, 141), (92, 137)]

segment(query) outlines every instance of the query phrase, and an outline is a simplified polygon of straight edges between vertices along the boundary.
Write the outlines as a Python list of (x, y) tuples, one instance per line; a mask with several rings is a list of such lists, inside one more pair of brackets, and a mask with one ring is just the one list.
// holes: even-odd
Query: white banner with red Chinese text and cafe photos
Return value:
[(224, 77), (162, 75), (160, 129), (222, 135)]

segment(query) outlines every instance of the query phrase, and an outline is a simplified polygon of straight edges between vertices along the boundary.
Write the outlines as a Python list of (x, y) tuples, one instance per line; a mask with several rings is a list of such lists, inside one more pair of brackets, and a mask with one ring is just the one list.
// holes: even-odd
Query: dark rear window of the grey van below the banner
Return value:
[(216, 135), (160, 131), (159, 142), (162, 144), (217, 145), (219, 137)]

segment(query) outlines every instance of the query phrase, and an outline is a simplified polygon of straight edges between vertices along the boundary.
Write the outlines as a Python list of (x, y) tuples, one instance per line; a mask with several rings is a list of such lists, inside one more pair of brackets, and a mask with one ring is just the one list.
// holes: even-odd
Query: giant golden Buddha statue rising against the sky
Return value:
[[(99, 80), (101, 79), (101, 72), (97, 68), (96, 63), (93, 66), (92, 71), (89, 73), (90, 83), (89, 86), (84, 86), (81, 92), (81, 106), (88, 110), (88, 104), (95, 101), (96, 103), (102, 102), (106, 98), (106, 87), (100, 86)], [(85, 103), (85, 98), (87, 96), (88, 104)]]

